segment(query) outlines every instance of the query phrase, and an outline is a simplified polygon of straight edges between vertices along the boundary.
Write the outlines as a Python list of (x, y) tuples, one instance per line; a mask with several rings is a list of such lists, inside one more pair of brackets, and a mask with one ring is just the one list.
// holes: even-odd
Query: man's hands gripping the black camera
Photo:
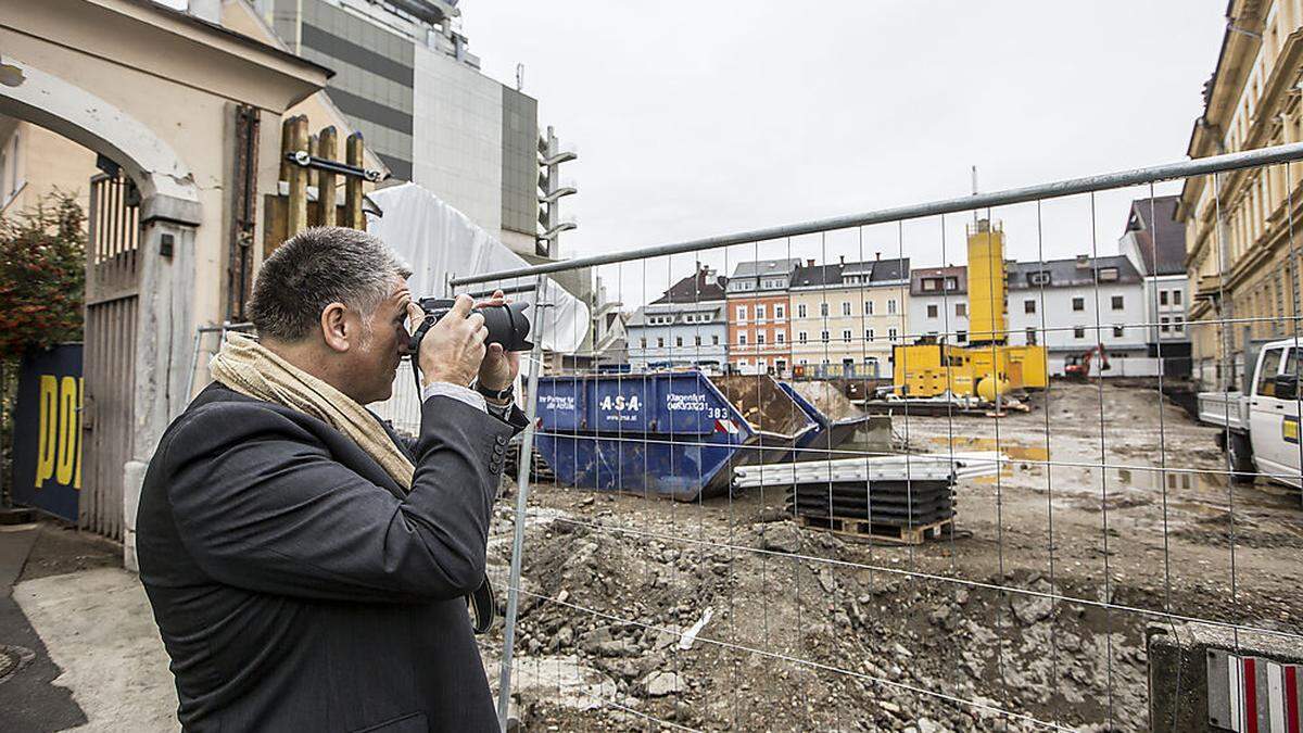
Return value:
[[(476, 304), (469, 295), (459, 295), (452, 310), (430, 326), (421, 339), (421, 352), (417, 363), (421, 365), (423, 383), (448, 382), (466, 386), (476, 377), (486, 389), (504, 390), (520, 373), (520, 355), (504, 352), (500, 344), (485, 346), (489, 329), (485, 318), (474, 312), (481, 305), (502, 305), (506, 303), (499, 290), (486, 301)], [(421, 307), (408, 304), (410, 327), (414, 331), (425, 318)]]

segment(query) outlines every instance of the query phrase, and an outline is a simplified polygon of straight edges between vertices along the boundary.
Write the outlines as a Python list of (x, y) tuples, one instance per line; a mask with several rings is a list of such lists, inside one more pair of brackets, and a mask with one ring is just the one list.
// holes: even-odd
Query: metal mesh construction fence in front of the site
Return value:
[[(533, 423), (490, 537), (507, 622), (483, 642), (503, 710), (559, 729), (1179, 728), (1153, 699), (1210, 682), (1153, 666), (1149, 635), (1303, 642), (1299, 158), (455, 278), (592, 267), (631, 313), (623, 343), (616, 318), (598, 347), (524, 361)], [(1280, 181), (1252, 203), (1272, 232), (1237, 228), (1243, 176)], [(1101, 218), (1127, 200), (1139, 222)], [(1171, 231), (1191, 239), (1162, 271)], [(1265, 286), (1244, 283), (1255, 247), (1278, 263)]]

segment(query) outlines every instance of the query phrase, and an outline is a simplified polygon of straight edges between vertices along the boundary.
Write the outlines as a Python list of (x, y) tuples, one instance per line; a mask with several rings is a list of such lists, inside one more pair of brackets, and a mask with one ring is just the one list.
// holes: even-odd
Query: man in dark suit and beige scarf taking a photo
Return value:
[(137, 549), (186, 730), (498, 726), (464, 596), (524, 425), (519, 361), (461, 296), (417, 355), (418, 438), (371, 429), (420, 314), (408, 274), (365, 232), (285, 243), (254, 284), (261, 361), (224, 348), (241, 386), (208, 385), (159, 442)]

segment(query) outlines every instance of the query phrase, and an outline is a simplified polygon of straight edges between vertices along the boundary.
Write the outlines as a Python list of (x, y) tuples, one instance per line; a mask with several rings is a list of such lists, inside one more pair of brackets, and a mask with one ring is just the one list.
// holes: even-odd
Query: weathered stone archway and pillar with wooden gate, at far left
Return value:
[[(100, 220), (121, 217), (106, 217), (96, 207), (106, 202), (122, 207), (124, 197), (93, 193), (89, 220), (81, 430), (87, 438), (82, 449), (87, 490), (79, 502), (79, 523), (124, 539), (132, 526), (129, 515), (134, 513), (134, 506), (130, 510), (124, 506), (129, 486), (143, 481), (145, 463), (138, 460), (137, 446), (152, 451), (159, 425), (165, 425), (176, 410), (167, 398), (169, 380), (158, 378), (167, 373), (173, 359), (173, 348), (160, 335), (189, 329), (190, 304), (175, 296), (195, 277), (190, 253), (203, 207), (189, 167), (139, 120), (31, 64), (7, 59), (5, 67), (0, 113), (40, 125), (104, 155), (121, 166), (141, 193), (139, 205), (130, 206), (132, 215), (126, 218), (133, 231), (116, 232), (120, 241), (115, 243), (115, 250), (121, 252), (113, 260), (102, 262), (95, 254), (104, 239), (96, 230), (103, 228)], [(107, 181), (95, 181), (93, 192), (104, 188), (98, 185), (103, 183)], [(171, 254), (154, 256), (162, 252)], [(124, 269), (124, 262), (129, 267)], [(102, 292), (96, 283), (107, 271), (117, 282)]]

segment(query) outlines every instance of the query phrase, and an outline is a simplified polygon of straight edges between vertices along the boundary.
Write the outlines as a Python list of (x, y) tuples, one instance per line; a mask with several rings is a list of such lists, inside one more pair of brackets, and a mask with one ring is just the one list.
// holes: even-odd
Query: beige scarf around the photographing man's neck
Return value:
[(322, 380), (276, 356), (248, 334), (229, 334), (208, 363), (212, 378), (235, 391), (311, 415), (344, 433), (403, 486), (416, 471), (374, 415)]

